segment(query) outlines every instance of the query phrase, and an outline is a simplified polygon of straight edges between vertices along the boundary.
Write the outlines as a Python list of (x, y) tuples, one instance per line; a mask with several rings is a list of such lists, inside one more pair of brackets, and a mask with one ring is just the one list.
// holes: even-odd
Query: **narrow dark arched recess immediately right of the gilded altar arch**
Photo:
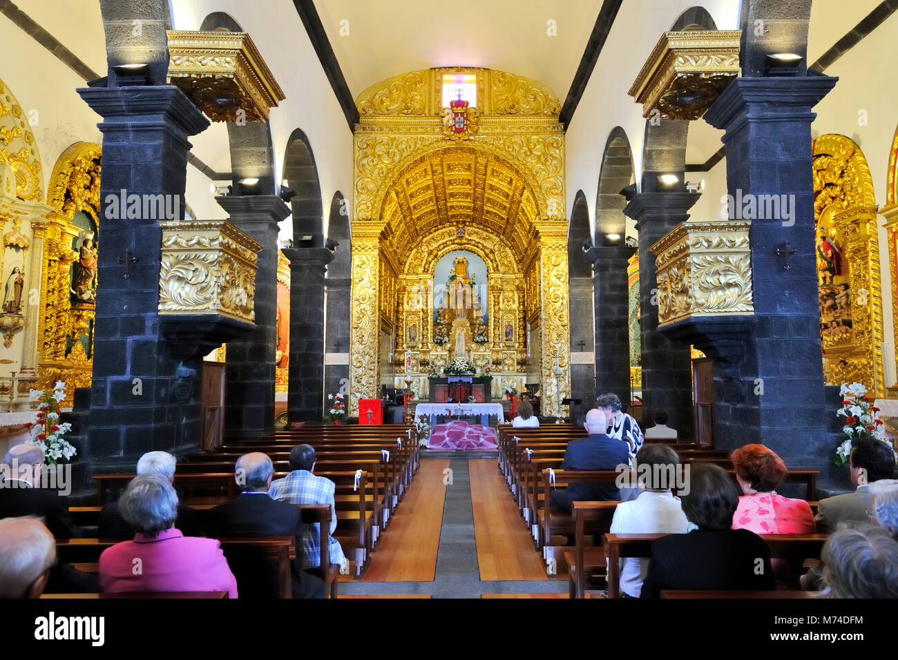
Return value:
[[(592, 247), (589, 204), (577, 190), (568, 226), (568, 305), (570, 308), (570, 387), (574, 399), (585, 409), (595, 400), (594, 289), (593, 268), (586, 256)], [(623, 241), (621, 232), (621, 242)], [(576, 410), (571, 413), (577, 415)]]

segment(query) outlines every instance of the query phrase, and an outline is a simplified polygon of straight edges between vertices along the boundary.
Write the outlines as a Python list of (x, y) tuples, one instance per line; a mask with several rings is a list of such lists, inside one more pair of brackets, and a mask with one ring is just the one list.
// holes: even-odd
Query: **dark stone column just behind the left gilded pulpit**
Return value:
[(217, 202), (229, 221), (262, 244), (256, 271), (256, 329), (227, 343), (225, 435), (255, 438), (274, 433), (277, 349), (277, 223), (290, 207), (276, 195), (225, 196)]

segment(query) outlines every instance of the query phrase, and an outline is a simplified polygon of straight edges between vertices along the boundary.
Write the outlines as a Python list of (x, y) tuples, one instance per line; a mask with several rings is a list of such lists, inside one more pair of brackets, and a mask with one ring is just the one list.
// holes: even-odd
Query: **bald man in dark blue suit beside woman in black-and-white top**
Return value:
[[(559, 470), (617, 470), (619, 465), (629, 467), (629, 444), (607, 436), (607, 423), (602, 410), (587, 412), (583, 426), (589, 436), (568, 443)], [(552, 508), (570, 511), (577, 500), (613, 501), (619, 498), (620, 492), (613, 484), (573, 484), (553, 490), (550, 503)]]

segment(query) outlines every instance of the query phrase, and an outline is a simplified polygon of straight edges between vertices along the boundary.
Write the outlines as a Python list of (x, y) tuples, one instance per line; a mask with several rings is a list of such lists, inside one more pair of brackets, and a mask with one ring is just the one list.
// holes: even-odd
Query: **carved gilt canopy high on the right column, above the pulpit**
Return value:
[(629, 88), (646, 119), (700, 119), (739, 75), (739, 30), (665, 32)]

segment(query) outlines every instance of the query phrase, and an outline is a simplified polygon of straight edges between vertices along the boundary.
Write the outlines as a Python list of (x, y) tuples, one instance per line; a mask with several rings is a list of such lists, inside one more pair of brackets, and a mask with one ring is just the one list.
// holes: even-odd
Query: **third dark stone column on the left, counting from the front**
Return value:
[(290, 260), (290, 370), (287, 410), (293, 422), (324, 418), (324, 273), (327, 248), (292, 248)]

